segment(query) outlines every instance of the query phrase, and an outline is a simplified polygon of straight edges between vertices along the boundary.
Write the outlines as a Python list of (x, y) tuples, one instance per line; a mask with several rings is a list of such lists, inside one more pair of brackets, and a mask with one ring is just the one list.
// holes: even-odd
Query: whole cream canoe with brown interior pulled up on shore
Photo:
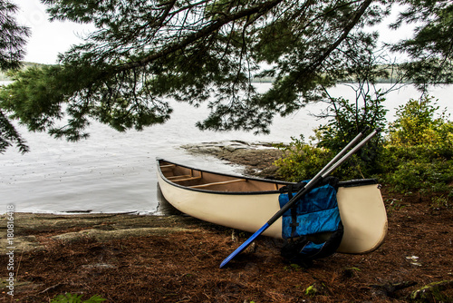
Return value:
[[(278, 191), (291, 183), (205, 171), (157, 160), (160, 191), (177, 210), (237, 230), (255, 232), (280, 210)], [(344, 233), (337, 252), (366, 253), (387, 234), (387, 213), (374, 180), (342, 181), (337, 192)], [(263, 235), (282, 239), (282, 219)]]

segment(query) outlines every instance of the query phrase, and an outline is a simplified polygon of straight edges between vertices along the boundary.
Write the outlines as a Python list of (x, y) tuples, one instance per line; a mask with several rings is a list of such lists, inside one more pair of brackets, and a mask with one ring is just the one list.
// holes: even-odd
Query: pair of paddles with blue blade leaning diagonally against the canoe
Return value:
[[(329, 174), (331, 174), (332, 171), (334, 171), (336, 168), (338, 168), (342, 164), (342, 162), (344, 162), (348, 158), (350, 158), (353, 153), (359, 151), (361, 149), (361, 147), (363, 145), (365, 145), (367, 142), (369, 142), (371, 140), (371, 138), (374, 137), (378, 132), (381, 132), (380, 129), (376, 129), (375, 131), (371, 132), (365, 139), (363, 139), (359, 144), (357, 144), (350, 152), (346, 153), (343, 156), (343, 154), (345, 152), (347, 152), (347, 150), (349, 150), (353, 144), (355, 144), (356, 142), (358, 142), (360, 140), (363, 133), (366, 132), (368, 129), (369, 129), (369, 127), (367, 127), (365, 130), (360, 132), (354, 139), (352, 139), (352, 142), (349, 142), (348, 145), (346, 145), (342, 149), (342, 151), (339, 152), (333, 158), (333, 160), (331, 160), (326, 166), (324, 166), (323, 170), (319, 171), (318, 174), (316, 174), (316, 176), (314, 176), (314, 178), (304, 186), (304, 188), (302, 188), (300, 191), (298, 191), (294, 195), (293, 199), (289, 200), (282, 209), (278, 210), (275, 213), (275, 215), (270, 220), (268, 220), (265, 223), (265, 225), (263, 225), (263, 227), (261, 229), (256, 230), (255, 233), (250, 238), (246, 239), (246, 241), (244, 243), (242, 243), (241, 246), (239, 246), (226, 259), (224, 259), (223, 262), (220, 264), (220, 269), (222, 269), (224, 266), (226, 266), (226, 264), (231, 259), (235, 258), (237, 254), (239, 254), (244, 249), (246, 249), (259, 235), (261, 235), (263, 232), (265, 232), (265, 230), (267, 230), (267, 228), (269, 228), (269, 226), (271, 226), (275, 222), (275, 220), (280, 218), (286, 210), (289, 210), (293, 206), (295, 201), (299, 200), (308, 191), (311, 191), (316, 186), (316, 184), (318, 184), (320, 181), (323, 180), (323, 178), (325, 178)], [(340, 159), (340, 160), (338, 160), (338, 159)]]

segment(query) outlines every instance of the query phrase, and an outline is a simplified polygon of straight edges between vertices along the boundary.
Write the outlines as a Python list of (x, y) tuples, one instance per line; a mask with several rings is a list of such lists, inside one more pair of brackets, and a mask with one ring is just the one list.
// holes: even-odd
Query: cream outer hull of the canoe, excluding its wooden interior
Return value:
[[(253, 233), (280, 210), (279, 192), (276, 190), (229, 192), (209, 191), (207, 188), (198, 189), (203, 185), (190, 188), (169, 180), (175, 177), (166, 177), (166, 173), (160, 169), (162, 163), (169, 165), (171, 162), (158, 161), (158, 181), (162, 195), (176, 209), (199, 220)], [(261, 180), (246, 178), (246, 181), (259, 182)], [(266, 183), (265, 186), (275, 183), (275, 189), (287, 184), (285, 182), (263, 182)], [(340, 187), (337, 200), (344, 226), (342, 243), (337, 251), (366, 253), (377, 249), (387, 233), (387, 215), (378, 185)], [(276, 220), (263, 235), (282, 239), (282, 219)]]

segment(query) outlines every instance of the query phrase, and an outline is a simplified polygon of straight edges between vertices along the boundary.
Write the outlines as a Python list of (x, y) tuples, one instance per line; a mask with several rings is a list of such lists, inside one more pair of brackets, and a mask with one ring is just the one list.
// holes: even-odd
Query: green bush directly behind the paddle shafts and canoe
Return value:
[[(283, 159), (276, 161), (277, 175), (287, 181), (303, 181), (313, 178), (348, 142), (366, 126), (383, 128), (387, 110), (381, 105), (385, 99), (376, 92), (374, 99), (366, 95), (363, 106), (343, 98), (330, 98), (331, 119), (315, 130), (313, 141), (305, 143), (304, 137), (292, 138), (288, 146), (278, 146), (285, 152)], [(369, 178), (381, 171), (379, 161), (382, 142), (378, 136), (344, 162), (333, 175), (342, 180)]]

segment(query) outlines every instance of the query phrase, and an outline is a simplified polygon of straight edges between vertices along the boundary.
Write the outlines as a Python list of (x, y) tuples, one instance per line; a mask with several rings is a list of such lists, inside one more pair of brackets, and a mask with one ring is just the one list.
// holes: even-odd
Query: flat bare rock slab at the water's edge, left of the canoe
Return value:
[[(45, 249), (47, 239), (78, 241), (96, 239), (106, 241), (149, 235), (168, 235), (172, 232), (197, 232), (190, 225), (198, 220), (181, 216), (140, 216), (136, 214), (14, 214), (14, 239), (0, 239), (0, 254), (9, 250), (14, 254)], [(39, 235), (39, 236), (38, 236)], [(10, 239), (11, 240), (11, 239)]]

